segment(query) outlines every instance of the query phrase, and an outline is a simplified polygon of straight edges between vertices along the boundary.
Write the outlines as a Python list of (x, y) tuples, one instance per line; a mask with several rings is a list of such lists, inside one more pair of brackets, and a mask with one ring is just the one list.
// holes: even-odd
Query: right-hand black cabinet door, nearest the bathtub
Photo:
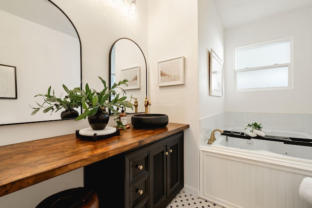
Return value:
[(175, 191), (182, 182), (182, 152), (181, 152), (181, 136), (178, 136), (174, 140), (168, 142), (168, 156), (167, 156), (167, 189), (169, 197), (173, 191)]

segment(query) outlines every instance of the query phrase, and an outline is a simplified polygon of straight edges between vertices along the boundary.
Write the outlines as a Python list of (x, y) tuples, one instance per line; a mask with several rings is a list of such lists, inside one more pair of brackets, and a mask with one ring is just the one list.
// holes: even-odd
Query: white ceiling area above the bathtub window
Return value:
[(312, 6), (312, 0), (213, 0), (224, 29)]

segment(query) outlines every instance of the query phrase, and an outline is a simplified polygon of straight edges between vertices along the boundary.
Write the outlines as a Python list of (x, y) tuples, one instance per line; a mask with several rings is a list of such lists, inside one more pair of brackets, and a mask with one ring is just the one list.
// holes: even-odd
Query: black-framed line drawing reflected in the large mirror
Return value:
[(15, 66), (0, 64), (0, 98), (18, 98)]

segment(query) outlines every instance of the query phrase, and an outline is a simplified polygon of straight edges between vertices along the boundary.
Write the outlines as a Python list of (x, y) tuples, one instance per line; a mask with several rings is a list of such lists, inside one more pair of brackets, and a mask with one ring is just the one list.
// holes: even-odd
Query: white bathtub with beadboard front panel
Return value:
[[(305, 133), (264, 133), (311, 139)], [(299, 195), (303, 178), (312, 177), (312, 147), (219, 132), (215, 137), (199, 148), (201, 198), (226, 208), (312, 208)]]

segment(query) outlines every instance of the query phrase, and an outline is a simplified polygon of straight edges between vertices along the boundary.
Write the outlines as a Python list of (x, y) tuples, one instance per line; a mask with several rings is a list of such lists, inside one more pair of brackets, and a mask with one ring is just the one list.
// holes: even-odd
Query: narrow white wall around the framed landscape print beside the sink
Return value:
[[(149, 113), (165, 113), (169, 122), (190, 124), (184, 133), (184, 185), (198, 195), (198, 50), (197, 4), (152, 0), (148, 4)], [(158, 62), (185, 57), (185, 84), (158, 87)]]

